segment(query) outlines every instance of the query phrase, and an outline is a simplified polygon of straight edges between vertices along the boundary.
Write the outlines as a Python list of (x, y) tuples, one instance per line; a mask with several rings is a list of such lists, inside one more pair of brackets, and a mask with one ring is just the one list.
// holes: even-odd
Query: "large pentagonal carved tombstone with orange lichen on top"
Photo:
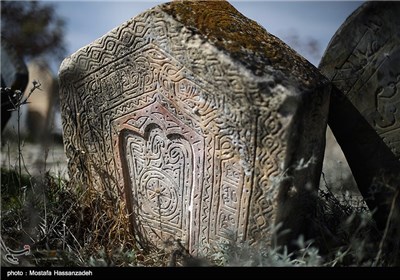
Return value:
[(155, 6), (59, 78), (72, 183), (118, 192), (142, 245), (308, 234), (329, 81), (228, 2)]

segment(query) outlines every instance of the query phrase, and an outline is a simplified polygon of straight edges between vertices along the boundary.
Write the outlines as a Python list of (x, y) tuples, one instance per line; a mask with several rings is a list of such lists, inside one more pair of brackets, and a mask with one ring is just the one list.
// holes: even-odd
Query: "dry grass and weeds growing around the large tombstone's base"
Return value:
[[(299, 249), (260, 242), (221, 242), (197, 259), (176, 244), (144, 251), (129, 232), (125, 205), (91, 187), (62, 178), (41, 179), (2, 169), (2, 240), (9, 248), (29, 244), (23, 266), (397, 266), (382, 246), (369, 211), (339, 202), (321, 190), (316, 240), (299, 238)], [(24, 188), (18, 189), (19, 181)], [(385, 237), (387, 238), (387, 236)], [(377, 252), (380, 252), (377, 256)], [(4, 259), (2, 266), (9, 266)]]

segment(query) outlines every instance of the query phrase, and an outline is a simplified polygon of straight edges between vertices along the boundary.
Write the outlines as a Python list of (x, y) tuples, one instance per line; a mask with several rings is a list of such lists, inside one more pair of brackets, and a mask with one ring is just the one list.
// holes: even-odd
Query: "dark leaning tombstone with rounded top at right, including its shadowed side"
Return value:
[(319, 65), (334, 84), (329, 127), (381, 229), (400, 183), (399, 15), (399, 2), (362, 4)]

